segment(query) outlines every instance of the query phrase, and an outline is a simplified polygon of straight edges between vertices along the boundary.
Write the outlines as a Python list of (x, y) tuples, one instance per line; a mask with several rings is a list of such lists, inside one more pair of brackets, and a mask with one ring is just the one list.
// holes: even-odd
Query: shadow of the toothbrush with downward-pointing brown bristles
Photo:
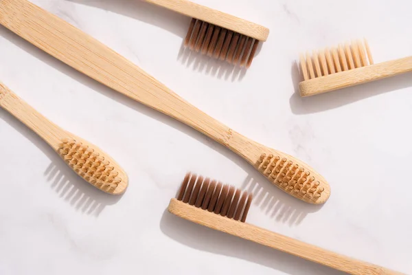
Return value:
[[(177, 60), (187, 68), (194, 71), (205, 73), (209, 76), (216, 76), (219, 79), (225, 80), (242, 80), (246, 75), (247, 69), (233, 66), (225, 61), (218, 61), (216, 58), (205, 56), (198, 52), (194, 52), (183, 46), (183, 39), (187, 34), (187, 29), (190, 25), (190, 18), (185, 17), (176, 12), (172, 12), (157, 5), (146, 3), (144, 1), (129, 1), (129, 0), (67, 0), (82, 5), (91, 5), (102, 10), (110, 10), (118, 14), (124, 14), (133, 19), (144, 21), (151, 25), (156, 25), (168, 32), (172, 32), (177, 36), (182, 37), (181, 50), (177, 54)], [(146, 39), (146, 43), (150, 40)], [(167, 46), (167, 45), (166, 45)], [(259, 44), (255, 56), (258, 56), (262, 43)]]

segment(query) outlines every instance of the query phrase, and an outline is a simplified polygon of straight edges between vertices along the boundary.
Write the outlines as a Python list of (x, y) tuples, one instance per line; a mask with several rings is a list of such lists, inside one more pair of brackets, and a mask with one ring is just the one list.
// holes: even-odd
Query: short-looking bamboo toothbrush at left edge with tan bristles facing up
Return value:
[(2, 83), (0, 107), (43, 138), (71, 169), (95, 188), (112, 195), (126, 190), (128, 177), (111, 157), (97, 146), (47, 120)]

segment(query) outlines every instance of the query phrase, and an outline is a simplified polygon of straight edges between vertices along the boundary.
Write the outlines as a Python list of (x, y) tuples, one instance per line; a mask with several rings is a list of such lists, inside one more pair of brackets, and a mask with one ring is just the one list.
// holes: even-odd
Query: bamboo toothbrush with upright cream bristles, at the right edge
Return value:
[[(369, 59), (369, 62), (368, 62)], [(299, 83), (301, 96), (359, 85), (412, 71), (412, 56), (374, 64), (369, 45), (364, 40), (301, 54), (304, 81)]]

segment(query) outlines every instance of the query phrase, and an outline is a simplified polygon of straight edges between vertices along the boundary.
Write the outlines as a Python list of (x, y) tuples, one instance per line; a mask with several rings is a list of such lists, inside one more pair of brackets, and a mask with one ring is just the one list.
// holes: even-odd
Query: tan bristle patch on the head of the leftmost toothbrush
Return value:
[(58, 153), (80, 177), (105, 192), (113, 192), (122, 182), (115, 164), (82, 142), (62, 140)]

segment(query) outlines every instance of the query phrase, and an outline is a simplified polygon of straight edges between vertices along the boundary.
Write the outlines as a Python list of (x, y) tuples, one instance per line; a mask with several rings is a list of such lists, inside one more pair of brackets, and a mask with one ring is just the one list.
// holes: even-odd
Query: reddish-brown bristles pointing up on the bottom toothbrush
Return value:
[(234, 186), (187, 173), (176, 199), (222, 217), (245, 222), (253, 196)]

